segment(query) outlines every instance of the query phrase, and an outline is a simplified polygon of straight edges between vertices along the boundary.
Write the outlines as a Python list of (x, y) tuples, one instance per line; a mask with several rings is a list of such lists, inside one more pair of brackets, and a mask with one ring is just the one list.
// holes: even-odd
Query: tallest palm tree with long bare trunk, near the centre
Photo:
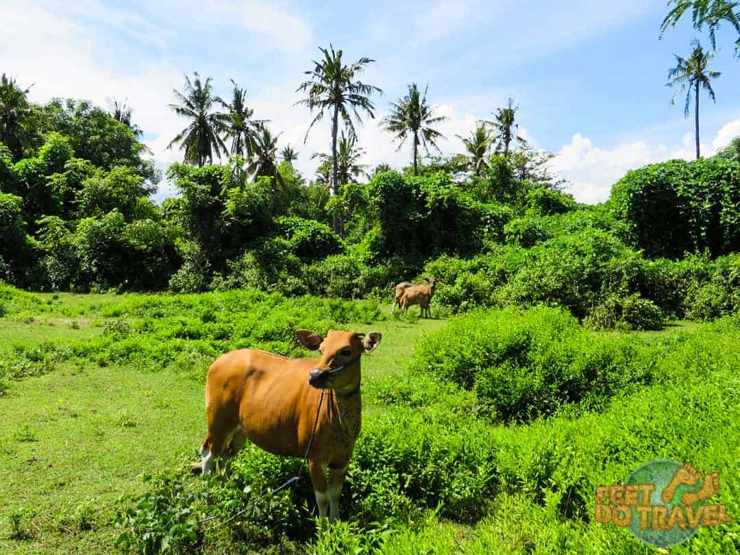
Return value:
[[(334, 51), (334, 47), (329, 44), (329, 49), (319, 47), (323, 58), (313, 62), (312, 70), (304, 72), (309, 75), (309, 80), (304, 81), (297, 88), (299, 92), (308, 93), (307, 98), (296, 102), (309, 108), (313, 114), (317, 112), (309, 129), (306, 131), (306, 138), (309, 137), (314, 124), (323, 119), (324, 112), (329, 110), (332, 117), (332, 195), (337, 193), (339, 186), (338, 166), (337, 166), (337, 135), (339, 131), (339, 118), (342, 118), (344, 126), (348, 129), (349, 134), (354, 136), (354, 124), (352, 118), (362, 123), (360, 111), (365, 112), (370, 118), (374, 118), (375, 106), (370, 100), (373, 92), (383, 94), (383, 91), (373, 85), (364, 84), (357, 80), (357, 75), (363, 72), (367, 64), (374, 62), (371, 58), (360, 58), (354, 64), (346, 65), (342, 61), (342, 50)], [(339, 221), (334, 219), (334, 230), (337, 231)]]

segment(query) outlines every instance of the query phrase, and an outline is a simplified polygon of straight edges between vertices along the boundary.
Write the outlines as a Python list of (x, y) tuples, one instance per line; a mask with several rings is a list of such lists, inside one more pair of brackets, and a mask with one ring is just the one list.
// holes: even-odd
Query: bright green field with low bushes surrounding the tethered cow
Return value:
[[(300, 354), (300, 327), (383, 333), (363, 362), (349, 522), (315, 536), (303, 484), (266, 501), (274, 514), (195, 536), (203, 552), (654, 552), (591, 511), (596, 485), (658, 458), (720, 471), (720, 502), (740, 510), (737, 318), (588, 332), (542, 307), (416, 320), (371, 301), (250, 291), (18, 293), (0, 318), (0, 552), (107, 553), (121, 506), (144, 507), (124, 529), (154, 517), (164, 537), (178, 511), (189, 522), (229, 514), (253, 499), (252, 484), (292, 476), (297, 461), (246, 449), (230, 481), (206, 484), (215, 502), (187, 497), (205, 491), (187, 467), (205, 431), (209, 362), (251, 345)], [(147, 508), (152, 495), (161, 508)], [(170, 536), (189, 552), (181, 532)], [(733, 524), (674, 551), (739, 547)]]

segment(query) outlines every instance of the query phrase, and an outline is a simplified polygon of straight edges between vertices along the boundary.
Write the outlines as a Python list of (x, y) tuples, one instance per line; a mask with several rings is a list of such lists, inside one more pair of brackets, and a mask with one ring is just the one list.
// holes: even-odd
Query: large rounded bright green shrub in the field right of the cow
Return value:
[(656, 355), (635, 337), (579, 329), (557, 309), (473, 312), (428, 334), (410, 368), (472, 389), (494, 419), (525, 421), (568, 404), (603, 407), (650, 383)]

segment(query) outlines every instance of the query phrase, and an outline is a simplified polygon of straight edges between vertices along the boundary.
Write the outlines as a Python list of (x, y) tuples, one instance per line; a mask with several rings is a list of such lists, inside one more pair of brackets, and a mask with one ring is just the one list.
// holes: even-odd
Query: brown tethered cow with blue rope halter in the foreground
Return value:
[[(360, 434), (360, 356), (375, 349), (381, 334), (337, 332), (325, 337), (297, 331), (303, 346), (318, 358), (281, 357), (256, 349), (223, 354), (206, 379), (208, 435), (199, 471), (210, 471), (214, 458), (228, 460), (250, 440), (270, 453), (308, 454), (319, 516), (339, 517), (339, 498), (357, 435)], [(322, 391), (323, 390), (323, 391)], [(320, 397), (323, 403), (317, 411)]]

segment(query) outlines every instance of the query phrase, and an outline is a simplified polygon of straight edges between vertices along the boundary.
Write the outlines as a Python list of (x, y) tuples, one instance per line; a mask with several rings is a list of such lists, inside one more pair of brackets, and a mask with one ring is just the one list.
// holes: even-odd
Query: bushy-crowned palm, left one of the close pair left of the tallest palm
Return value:
[(208, 161), (213, 163), (214, 154), (221, 158), (221, 152), (228, 150), (221, 139), (222, 133), (229, 132), (229, 117), (226, 114), (211, 112), (216, 98), (212, 95), (213, 85), (211, 78), (201, 81), (198, 72), (193, 72), (195, 79), (191, 82), (185, 75), (185, 91), (173, 89), (175, 98), (180, 104), (169, 104), (178, 115), (189, 118), (190, 124), (170, 141), (167, 148), (180, 143), (180, 149), (185, 151), (185, 164), (203, 166)]

